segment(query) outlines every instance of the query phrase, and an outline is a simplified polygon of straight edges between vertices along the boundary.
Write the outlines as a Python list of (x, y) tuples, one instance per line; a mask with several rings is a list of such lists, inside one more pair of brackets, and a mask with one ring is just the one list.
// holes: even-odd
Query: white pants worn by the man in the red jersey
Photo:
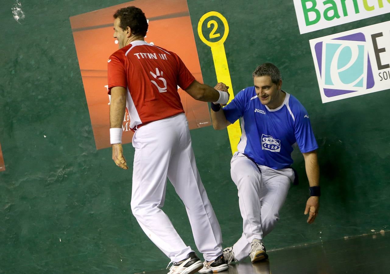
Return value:
[(186, 207), (198, 250), (208, 261), (221, 255), (221, 228), (200, 180), (184, 113), (140, 127), (133, 147), (131, 210), (146, 235), (172, 262), (192, 252), (161, 210), (168, 177)]

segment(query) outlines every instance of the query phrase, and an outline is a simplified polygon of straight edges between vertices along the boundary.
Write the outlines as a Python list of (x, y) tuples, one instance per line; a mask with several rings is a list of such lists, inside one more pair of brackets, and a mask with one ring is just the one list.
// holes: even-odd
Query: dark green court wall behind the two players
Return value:
[[(96, 150), (69, 17), (121, 4), (114, 0), (20, 0), (0, 4), (0, 273), (134, 273), (160, 269), (168, 259), (131, 214), (131, 167)], [(205, 83), (216, 76), (211, 51), (197, 35), (199, 18), (227, 18), (225, 42), (233, 90), (252, 85), (252, 71), (273, 62), (283, 88), (307, 108), (319, 143), (321, 209), (303, 215), (308, 198), (303, 157), (267, 249), (388, 230), (390, 220), (390, 90), (321, 103), (309, 39), (388, 20), (388, 15), (299, 34), (292, 1), (188, 1)], [(44, 137), (46, 136), (46, 138)], [(220, 221), (224, 246), (242, 232), (230, 179), (226, 130), (191, 131), (198, 168)], [(134, 150), (124, 145), (131, 162)], [(210, 152), (212, 152), (210, 154)], [(213, 157), (216, 156), (216, 157)], [(184, 241), (195, 248), (182, 202), (168, 186), (164, 207)]]

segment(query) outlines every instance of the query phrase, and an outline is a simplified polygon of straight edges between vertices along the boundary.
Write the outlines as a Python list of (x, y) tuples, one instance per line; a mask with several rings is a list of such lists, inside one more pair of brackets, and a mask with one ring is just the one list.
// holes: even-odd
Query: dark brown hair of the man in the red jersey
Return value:
[(145, 36), (147, 32), (147, 21), (144, 12), (140, 8), (131, 6), (119, 9), (113, 15), (115, 19), (121, 20), (120, 27), (125, 30), (131, 28), (131, 33), (138, 36)]

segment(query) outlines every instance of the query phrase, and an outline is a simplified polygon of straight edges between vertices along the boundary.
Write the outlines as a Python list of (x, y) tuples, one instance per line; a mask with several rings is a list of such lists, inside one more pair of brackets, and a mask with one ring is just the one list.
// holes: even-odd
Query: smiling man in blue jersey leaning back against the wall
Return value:
[(268, 258), (262, 240), (275, 227), (295, 179), (291, 169), (294, 143), (298, 143), (305, 159), (310, 185), (305, 209), (309, 224), (319, 209), (318, 145), (307, 111), (293, 95), (282, 90), (282, 78), (275, 65), (259, 65), (253, 79), (254, 87), (241, 90), (223, 109), (220, 104), (211, 104), (215, 129), (224, 129), (241, 118), (242, 135), (230, 161), (230, 173), (238, 188), (243, 233), (223, 251), (229, 263), (248, 255), (252, 262)]

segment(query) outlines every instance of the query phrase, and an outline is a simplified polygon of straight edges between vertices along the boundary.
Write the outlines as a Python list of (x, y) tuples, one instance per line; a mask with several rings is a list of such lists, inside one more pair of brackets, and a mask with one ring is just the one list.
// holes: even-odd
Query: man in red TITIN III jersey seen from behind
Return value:
[[(113, 17), (119, 50), (108, 59), (110, 142), (113, 161), (128, 169), (121, 145), (127, 107), (135, 131), (131, 210), (146, 235), (170, 258), (170, 274), (227, 270), (220, 226), (200, 180), (177, 86), (196, 100), (220, 104), (229, 99), (227, 87), (217, 91), (197, 82), (176, 53), (145, 42), (148, 25), (141, 9), (122, 8)], [(161, 210), (167, 177), (186, 207), (204, 263)]]

